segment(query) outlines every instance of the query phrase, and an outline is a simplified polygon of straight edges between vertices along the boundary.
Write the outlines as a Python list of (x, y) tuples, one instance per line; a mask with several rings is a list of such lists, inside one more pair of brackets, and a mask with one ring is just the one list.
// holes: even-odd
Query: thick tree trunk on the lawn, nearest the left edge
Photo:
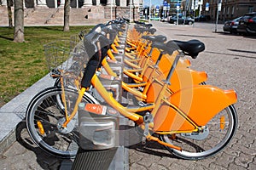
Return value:
[(24, 8), (23, 0), (15, 0), (15, 38), (14, 42), (24, 40)]

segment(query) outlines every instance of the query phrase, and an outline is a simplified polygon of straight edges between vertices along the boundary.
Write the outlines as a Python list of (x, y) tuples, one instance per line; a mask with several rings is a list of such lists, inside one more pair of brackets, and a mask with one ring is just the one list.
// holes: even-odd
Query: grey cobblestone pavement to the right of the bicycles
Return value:
[(225, 34), (218, 26), (196, 23), (191, 26), (172, 26), (152, 22), (158, 34), (168, 40), (198, 39), (206, 50), (191, 59), (192, 68), (207, 71), (207, 84), (219, 88), (234, 88), (238, 94), (235, 105), (239, 119), (236, 136), (227, 148), (216, 156), (201, 161), (178, 159), (160, 144), (133, 145), (130, 167), (133, 169), (256, 169), (256, 37)]

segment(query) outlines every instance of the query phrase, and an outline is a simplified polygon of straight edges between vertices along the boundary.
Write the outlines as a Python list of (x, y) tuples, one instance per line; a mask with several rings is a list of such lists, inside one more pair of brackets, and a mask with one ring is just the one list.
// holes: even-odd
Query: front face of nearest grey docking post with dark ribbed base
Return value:
[(119, 147), (119, 117), (86, 109), (106, 114), (107, 106), (80, 103), (79, 150), (72, 169), (110, 169)]

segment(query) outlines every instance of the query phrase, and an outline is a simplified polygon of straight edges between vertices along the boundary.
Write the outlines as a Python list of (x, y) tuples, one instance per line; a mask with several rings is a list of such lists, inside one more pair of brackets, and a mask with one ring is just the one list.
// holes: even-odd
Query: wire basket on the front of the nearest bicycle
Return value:
[(63, 77), (66, 84), (79, 79), (88, 62), (83, 42), (59, 40), (44, 45), (46, 62), (50, 74)]

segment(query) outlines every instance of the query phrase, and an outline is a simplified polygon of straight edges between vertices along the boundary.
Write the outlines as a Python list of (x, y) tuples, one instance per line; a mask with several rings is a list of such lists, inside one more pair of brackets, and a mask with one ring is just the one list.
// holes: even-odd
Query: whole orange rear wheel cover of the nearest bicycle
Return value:
[(193, 131), (237, 101), (234, 90), (209, 85), (185, 88), (172, 94), (154, 116), (154, 131)]

